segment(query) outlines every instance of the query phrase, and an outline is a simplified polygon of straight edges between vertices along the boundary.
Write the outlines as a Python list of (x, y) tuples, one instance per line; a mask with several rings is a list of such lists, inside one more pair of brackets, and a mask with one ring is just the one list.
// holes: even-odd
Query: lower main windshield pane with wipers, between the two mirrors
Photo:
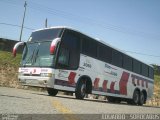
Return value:
[(54, 66), (54, 55), (50, 55), (51, 41), (27, 43), (22, 57), (22, 66)]

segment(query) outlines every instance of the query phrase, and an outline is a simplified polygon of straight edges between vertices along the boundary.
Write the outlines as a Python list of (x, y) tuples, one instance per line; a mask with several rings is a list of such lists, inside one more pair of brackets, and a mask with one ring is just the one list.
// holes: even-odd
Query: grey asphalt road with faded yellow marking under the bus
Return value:
[(0, 87), (0, 114), (105, 114), (153, 113), (160, 114), (160, 107), (132, 106), (126, 103), (111, 104), (107, 101), (74, 96), (48, 96), (47, 92)]

